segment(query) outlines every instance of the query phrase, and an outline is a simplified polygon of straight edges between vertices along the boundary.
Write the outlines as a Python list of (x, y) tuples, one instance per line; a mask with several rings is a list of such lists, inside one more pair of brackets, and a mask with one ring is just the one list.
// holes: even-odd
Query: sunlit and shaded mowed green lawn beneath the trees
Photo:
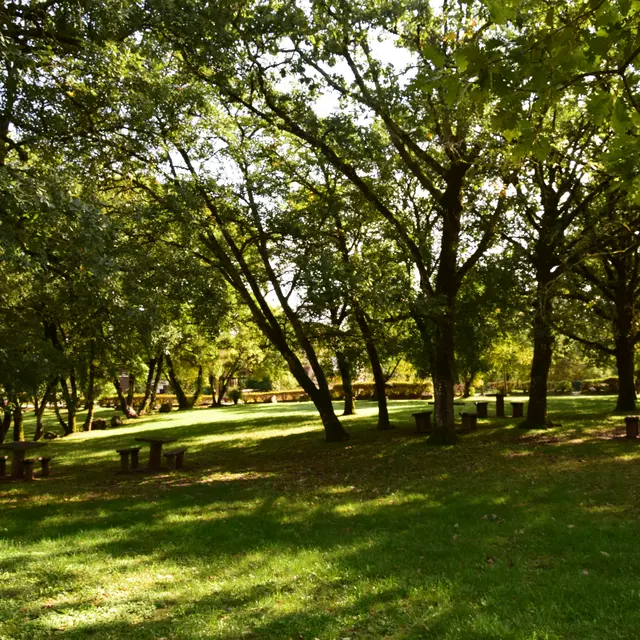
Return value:
[[(640, 448), (613, 404), (451, 448), (414, 434), (419, 401), (392, 432), (361, 402), (345, 444), (309, 403), (53, 441), (51, 478), (0, 484), (0, 638), (638, 638)], [(119, 474), (149, 434), (188, 468)]]

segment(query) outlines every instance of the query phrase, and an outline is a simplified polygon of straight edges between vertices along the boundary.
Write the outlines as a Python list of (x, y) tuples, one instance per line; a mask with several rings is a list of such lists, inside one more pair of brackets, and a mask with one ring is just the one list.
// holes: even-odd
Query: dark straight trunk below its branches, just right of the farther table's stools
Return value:
[(551, 426), (551, 421), (547, 417), (547, 383), (555, 339), (551, 329), (553, 308), (548, 282), (546, 279), (538, 280), (533, 318), (533, 361), (531, 362), (529, 405), (527, 418), (520, 424), (523, 429), (546, 429)]

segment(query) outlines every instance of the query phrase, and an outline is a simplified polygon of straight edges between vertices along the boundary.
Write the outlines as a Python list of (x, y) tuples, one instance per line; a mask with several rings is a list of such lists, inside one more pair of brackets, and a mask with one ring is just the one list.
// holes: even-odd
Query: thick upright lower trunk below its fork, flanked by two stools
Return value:
[(434, 425), (429, 442), (431, 444), (455, 444), (453, 412), (455, 370), (455, 321), (453, 302), (448, 312), (436, 319), (435, 358), (433, 363)]

